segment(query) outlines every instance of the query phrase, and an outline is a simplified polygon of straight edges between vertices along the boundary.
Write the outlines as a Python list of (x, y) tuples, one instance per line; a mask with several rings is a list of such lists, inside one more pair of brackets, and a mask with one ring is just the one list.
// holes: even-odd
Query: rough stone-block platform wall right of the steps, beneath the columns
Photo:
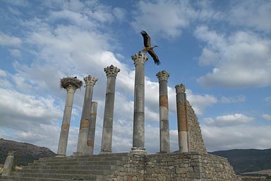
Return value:
[(207, 153), (162, 153), (128, 160), (109, 176), (109, 180), (125, 181), (239, 181), (226, 158)]

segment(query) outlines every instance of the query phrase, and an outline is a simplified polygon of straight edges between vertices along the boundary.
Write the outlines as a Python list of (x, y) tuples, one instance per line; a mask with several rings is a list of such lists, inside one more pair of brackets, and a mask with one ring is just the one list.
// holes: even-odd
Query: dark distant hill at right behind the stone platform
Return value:
[(234, 149), (210, 154), (228, 158), (237, 174), (271, 169), (271, 149)]

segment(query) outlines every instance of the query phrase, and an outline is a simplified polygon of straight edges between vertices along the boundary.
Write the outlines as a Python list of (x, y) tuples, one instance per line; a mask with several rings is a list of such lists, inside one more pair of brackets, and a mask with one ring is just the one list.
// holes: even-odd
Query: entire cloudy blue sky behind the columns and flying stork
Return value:
[[(175, 86), (200, 122), (207, 151), (271, 146), (271, 1), (0, 0), (0, 137), (56, 153), (66, 101), (61, 78), (98, 78), (95, 154), (107, 77), (116, 76), (112, 151), (131, 151), (135, 66), (152, 38), (161, 64), (145, 64), (145, 148), (159, 151), (159, 83), (169, 72), (171, 151), (179, 149)], [(76, 151), (85, 88), (73, 100), (67, 154)]]

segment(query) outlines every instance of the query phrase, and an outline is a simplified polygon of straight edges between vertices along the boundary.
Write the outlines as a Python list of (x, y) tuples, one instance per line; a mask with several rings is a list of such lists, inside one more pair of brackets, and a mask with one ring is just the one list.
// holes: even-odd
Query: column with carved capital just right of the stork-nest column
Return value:
[(85, 98), (83, 103), (82, 116), (80, 120), (80, 130), (77, 143), (77, 151), (73, 153), (73, 156), (88, 155), (88, 129), (90, 125), (90, 107), (92, 102), (93, 86), (97, 82), (97, 78), (94, 76), (86, 76), (85, 81)]

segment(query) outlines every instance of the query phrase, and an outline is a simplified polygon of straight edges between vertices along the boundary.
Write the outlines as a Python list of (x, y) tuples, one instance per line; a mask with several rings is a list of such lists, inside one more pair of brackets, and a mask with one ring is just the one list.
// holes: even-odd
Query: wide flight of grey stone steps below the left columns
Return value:
[(63, 180), (107, 180), (128, 159), (129, 153), (112, 153), (97, 156), (68, 156), (40, 158), (24, 166), (2, 180), (16, 181), (63, 181)]

